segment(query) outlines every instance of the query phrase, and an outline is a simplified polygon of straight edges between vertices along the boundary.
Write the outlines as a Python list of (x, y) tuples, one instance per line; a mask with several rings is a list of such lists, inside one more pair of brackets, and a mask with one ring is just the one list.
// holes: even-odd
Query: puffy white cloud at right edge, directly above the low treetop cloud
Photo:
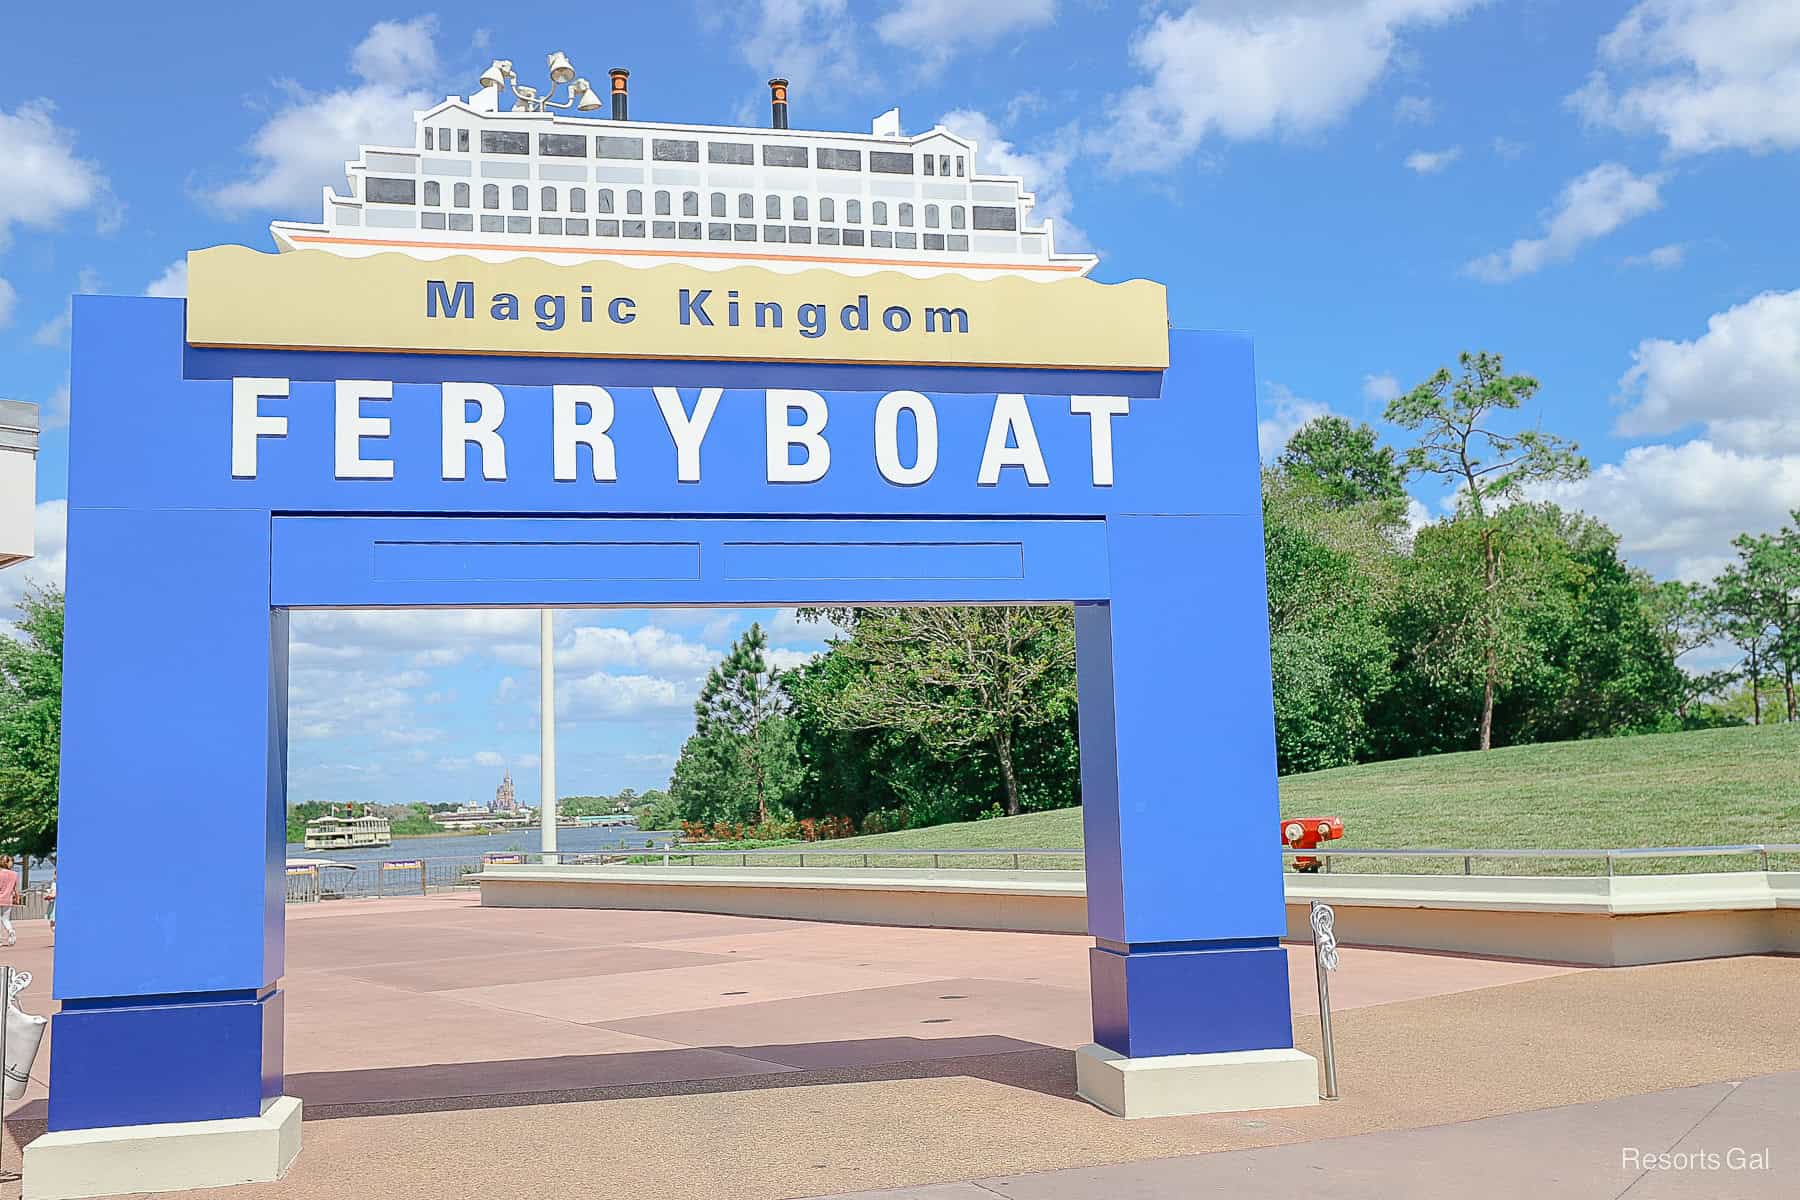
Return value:
[(1714, 313), (1690, 342), (1640, 342), (1618, 385), (1625, 437), (1705, 423), (1724, 450), (1800, 452), (1800, 290)]

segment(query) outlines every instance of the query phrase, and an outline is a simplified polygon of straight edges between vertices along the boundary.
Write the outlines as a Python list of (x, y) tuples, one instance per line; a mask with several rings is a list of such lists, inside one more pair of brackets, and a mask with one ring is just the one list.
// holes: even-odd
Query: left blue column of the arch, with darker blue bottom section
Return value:
[(270, 520), (68, 515), (50, 1130), (281, 1094), (286, 613)]

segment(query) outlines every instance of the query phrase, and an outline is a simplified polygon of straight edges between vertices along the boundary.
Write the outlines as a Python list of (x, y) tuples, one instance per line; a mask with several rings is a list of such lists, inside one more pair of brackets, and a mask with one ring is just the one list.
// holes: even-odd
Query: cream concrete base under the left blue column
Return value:
[(301, 1153), (301, 1101), (259, 1117), (61, 1130), (25, 1146), (23, 1200), (268, 1184)]

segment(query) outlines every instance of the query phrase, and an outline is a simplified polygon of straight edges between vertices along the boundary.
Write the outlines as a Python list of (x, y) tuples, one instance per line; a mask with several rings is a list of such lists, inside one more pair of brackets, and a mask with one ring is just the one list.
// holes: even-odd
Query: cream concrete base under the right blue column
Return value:
[(1075, 1090), (1114, 1117), (1300, 1108), (1319, 1103), (1319, 1067), (1294, 1049), (1125, 1058), (1084, 1045), (1075, 1052)]

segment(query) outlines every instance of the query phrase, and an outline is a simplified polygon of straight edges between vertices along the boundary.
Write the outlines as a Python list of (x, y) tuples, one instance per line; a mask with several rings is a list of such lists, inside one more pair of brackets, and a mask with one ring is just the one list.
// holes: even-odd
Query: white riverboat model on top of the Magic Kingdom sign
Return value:
[(904, 135), (900, 110), (868, 133), (790, 130), (787, 81), (770, 79), (767, 130), (630, 121), (617, 68), (610, 119), (581, 117), (571, 110), (601, 108), (599, 94), (562, 54), (549, 68), (547, 94), (497, 61), (475, 95), (414, 113), (412, 146), (362, 148), (347, 191), (324, 189), (324, 219), (275, 221), (275, 245), (1028, 279), (1098, 261), (1058, 252), (1051, 221), (1030, 221), (1022, 180), (977, 171), (974, 140), (943, 126)]

